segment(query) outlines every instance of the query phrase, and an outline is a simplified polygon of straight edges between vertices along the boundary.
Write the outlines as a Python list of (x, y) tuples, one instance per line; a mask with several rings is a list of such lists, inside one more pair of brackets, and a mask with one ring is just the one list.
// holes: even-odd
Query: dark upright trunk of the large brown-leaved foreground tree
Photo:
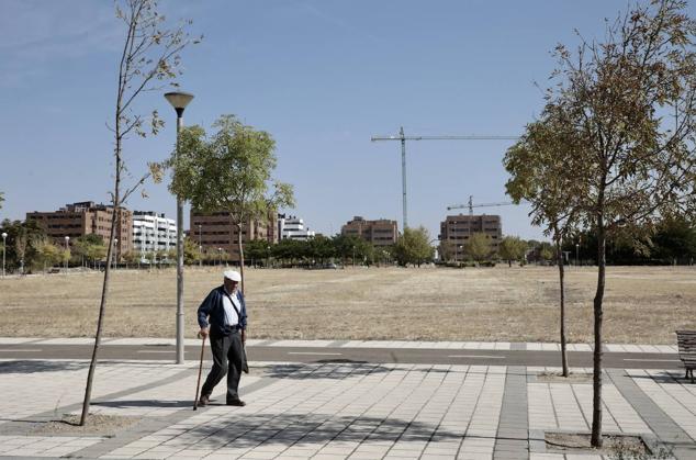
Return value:
[(595, 349), (592, 396), (592, 446), (602, 447), (602, 301), (606, 279), (606, 231), (604, 216), (597, 218), (597, 292), (594, 300)]

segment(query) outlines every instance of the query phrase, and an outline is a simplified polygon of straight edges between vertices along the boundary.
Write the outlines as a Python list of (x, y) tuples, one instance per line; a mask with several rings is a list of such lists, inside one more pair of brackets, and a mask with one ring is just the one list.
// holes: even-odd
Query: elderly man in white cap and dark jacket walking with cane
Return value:
[[(247, 310), (244, 295), (237, 287), (242, 276), (235, 270), (223, 273), (223, 285), (213, 289), (198, 311), (199, 333), (203, 339), (210, 336), (213, 352), (213, 368), (201, 389), (199, 405), (210, 402), (213, 388), (227, 374), (228, 406), (244, 406), (239, 400), (239, 377), (245, 364)], [(209, 323), (210, 321), (210, 323)]]

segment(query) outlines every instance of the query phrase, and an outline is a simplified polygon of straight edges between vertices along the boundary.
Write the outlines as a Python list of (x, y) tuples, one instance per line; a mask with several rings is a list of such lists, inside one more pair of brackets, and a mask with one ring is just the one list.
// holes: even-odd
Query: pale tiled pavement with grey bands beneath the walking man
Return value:
[[(588, 431), (592, 417), (592, 385), (546, 383), (538, 374), (549, 368), (252, 362), (251, 374), (242, 379), (246, 407), (211, 405), (193, 412), (197, 366), (101, 362), (92, 412), (139, 422), (115, 437), (37, 436), (32, 430), (40, 422), (79, 413), (88, 362), (0, 360), (5, 395), (0, 400), (0, 456), (602, 458), (547, 450), (545, 431)], [(682, 378), (681, 371), (607, 370), (605, 433), (640, 435), (662, 442), (676, 458), (696, 458), (696, 385)], [(224, 402), (224, 386), (213, 396)]]

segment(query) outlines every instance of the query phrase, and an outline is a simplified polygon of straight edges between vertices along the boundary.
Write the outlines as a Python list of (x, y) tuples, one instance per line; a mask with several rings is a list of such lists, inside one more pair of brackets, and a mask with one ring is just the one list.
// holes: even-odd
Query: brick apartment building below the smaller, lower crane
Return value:
[(451, 245), (453, 259), (464, 260), (464, 245), (474, 233), (484, 233), (491, 237), (491, 247), (497, 251), (503, 238), (503, 224), (499, 215), (448, 215), (440, 222), (440, 240)]

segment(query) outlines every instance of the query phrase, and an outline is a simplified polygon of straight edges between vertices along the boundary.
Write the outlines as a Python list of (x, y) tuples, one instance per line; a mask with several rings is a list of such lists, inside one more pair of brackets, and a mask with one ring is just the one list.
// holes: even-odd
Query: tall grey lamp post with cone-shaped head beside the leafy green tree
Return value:
[[(177, 147), (175, 156), (179, 157), (179, 135), (183, 126), (183, 109), (191, 102), (193, 94), (188, 92), (168, 92), (165, 98), (177, 112)], [(183, 363), (183, 203), (177, 195), (177, 364)]]

